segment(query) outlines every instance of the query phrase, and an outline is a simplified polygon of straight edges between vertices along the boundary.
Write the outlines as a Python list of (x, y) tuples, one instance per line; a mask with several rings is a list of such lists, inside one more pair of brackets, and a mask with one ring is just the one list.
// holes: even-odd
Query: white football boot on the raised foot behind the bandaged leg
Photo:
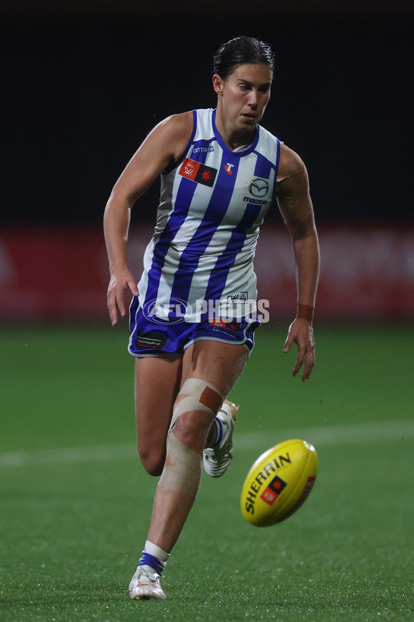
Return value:
[(224, 400), (221, 410), (217, 413), (215, 424), (222, 427), (221, 440), (214, 447), (206, 447), (203, 452), (204, 471), (210, 478), (221, 478), (226, 473), (233, 458), (233, 428), (237, 420), (239, 406)]

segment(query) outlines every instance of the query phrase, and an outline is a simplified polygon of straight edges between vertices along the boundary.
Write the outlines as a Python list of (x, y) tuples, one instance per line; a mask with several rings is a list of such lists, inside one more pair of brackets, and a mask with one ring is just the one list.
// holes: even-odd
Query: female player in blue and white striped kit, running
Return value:
[[(130, 290), (138, 450), (146, 471), (160, 476), (132, 599), (165, 598), (159, 578), (197, 497), (203, 464), (212, 477), (230, 464), (237, 406), (226, 396), (259, 326), (253, 256), (275, 203), (297, 265), (297, 314), (284, 352), (297, 343), (293, 375), (303, 366), (302, 381), (315, 361), (319, 250), (308, 176), (301, 158), (259, 126), (273, 60), (270, 47), (251, 37), (221, 46), (213, 70), (217, 109), (159, 123), (106, 206), (108, 309), (115, 325)], [(159, 176), (157, 224), (137, 284), (126, 261), (130, 211)]]

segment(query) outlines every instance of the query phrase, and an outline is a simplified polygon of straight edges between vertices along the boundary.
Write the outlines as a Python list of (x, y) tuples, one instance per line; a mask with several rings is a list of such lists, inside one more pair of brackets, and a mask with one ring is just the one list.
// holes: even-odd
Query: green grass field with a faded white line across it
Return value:
[[(231, 397), (235, 458), (204, 475), (166, 601), (130, 601), (157, 480), (135, 451), (126, 327), (3, 327), (0, 620), (414, 620), (413, 326), (316, 328), (311, 381), (287, 326), (257, 332)], [(242, 518), (253, 460), (313, 442), (317, 482), (275, 527)]]

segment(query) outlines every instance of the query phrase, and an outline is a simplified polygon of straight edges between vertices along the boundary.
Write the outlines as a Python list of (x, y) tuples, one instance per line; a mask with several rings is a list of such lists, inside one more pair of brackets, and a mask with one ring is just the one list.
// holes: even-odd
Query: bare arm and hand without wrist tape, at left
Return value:
[(181, 158), (193, 133), (193, 113), (172, 115), (148, 134), (112, 189), (103, 216), (110, 282), (108, 311), (112, 326), (126, 314), (124, 293), (138, 295), (137, 281), (128, 269), (126, 244), (130, 212), (135, 201), (155, 182), (161, 171)]

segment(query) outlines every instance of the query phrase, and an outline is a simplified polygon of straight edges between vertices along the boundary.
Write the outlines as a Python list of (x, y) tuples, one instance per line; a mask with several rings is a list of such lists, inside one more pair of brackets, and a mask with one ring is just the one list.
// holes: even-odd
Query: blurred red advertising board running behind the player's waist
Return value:
[[(130, 232), (128, 261), (137, 281), (151, 233), (148, 225)], [(323, 226), (319, 241), (317, 320), (414, 318), (414, 226)], [(270, 322), (292, 319), (295, 263), (284, 227), (262, 227), (255, 271)], [(101, 228), (3, 229), (0, 285), (1, 321), (106, 319), (108, 261)]]

